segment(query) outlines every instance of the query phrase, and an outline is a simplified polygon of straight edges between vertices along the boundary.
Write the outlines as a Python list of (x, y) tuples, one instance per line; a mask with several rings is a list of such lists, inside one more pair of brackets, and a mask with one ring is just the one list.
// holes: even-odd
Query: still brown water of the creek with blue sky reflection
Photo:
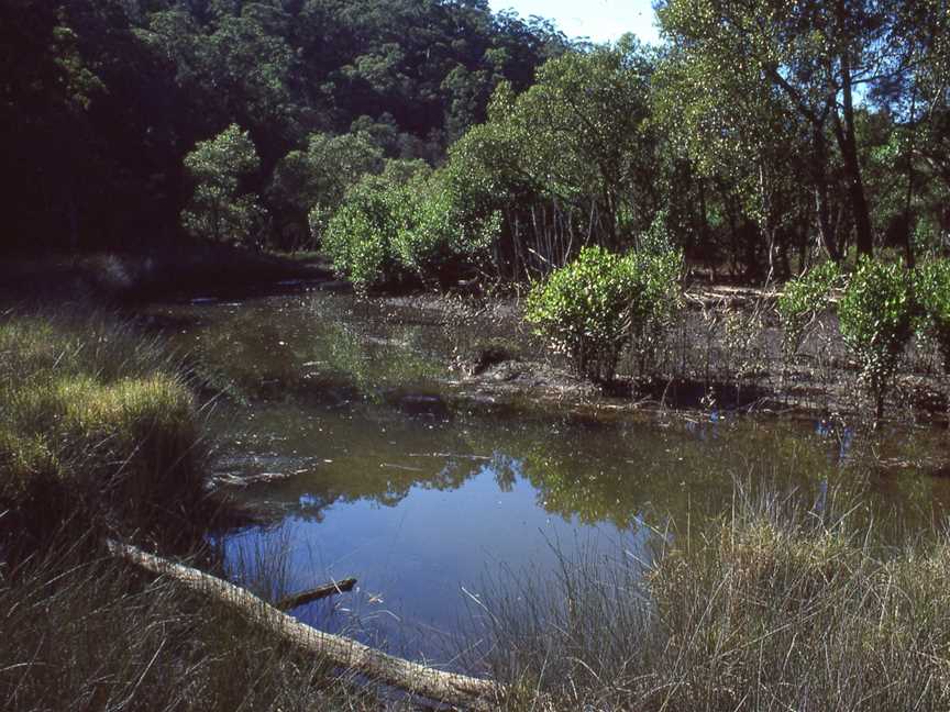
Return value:
[(852, 515), (888, 538), (950, 505), (943, 432), (486, 396), (449, 364), (483, 342), (537, 347), (496, 318), (323, 292), (152, 314), (227, 392), (208, 415), (217, 476), (265, 480), (230, 486), (267, 522), (224, 537), (234, 577), (283, 592), (355, 577), (294, 613), (417, 659), (466, 667), (452, 656), (499, 591), (577, 556), (649, 561), (728, 515), (737, 482), (817, 515), (862, 492)]

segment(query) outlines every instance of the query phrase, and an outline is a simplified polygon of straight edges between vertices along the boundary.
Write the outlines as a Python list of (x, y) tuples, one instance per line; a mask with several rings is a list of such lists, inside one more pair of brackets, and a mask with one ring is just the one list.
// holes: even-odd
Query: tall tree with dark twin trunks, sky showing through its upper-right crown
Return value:
[[(857, 105), (872, 88), (903, 77), (914, 53), (902, 0), (667, 0), (659, 8), (665, 36), (687, 64), (720, 75), (716, 109), (767, 91), (794, 120), (808, 147), (818, 225), (832, 257), (829, 176), (844, 178), (858, 252), (873, 252), (869, 199), (860, 160)], [(913, 43), (912, 43), (913, 44)], [(785, 141), (787, 132), (777, 135)]]

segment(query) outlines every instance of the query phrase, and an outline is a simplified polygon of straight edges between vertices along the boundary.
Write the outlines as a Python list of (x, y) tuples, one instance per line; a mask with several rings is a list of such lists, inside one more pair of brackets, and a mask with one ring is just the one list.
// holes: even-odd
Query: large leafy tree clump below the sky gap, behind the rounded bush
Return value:
[(549, 271), (584, 244), (628, 246), (651, 224), (663, 203), (652, 70), (631, 40), (556, 57), (520, 94), (500, 85), (488, 121), (452, 147), (463, 203), (504, 215), (499, 270)]

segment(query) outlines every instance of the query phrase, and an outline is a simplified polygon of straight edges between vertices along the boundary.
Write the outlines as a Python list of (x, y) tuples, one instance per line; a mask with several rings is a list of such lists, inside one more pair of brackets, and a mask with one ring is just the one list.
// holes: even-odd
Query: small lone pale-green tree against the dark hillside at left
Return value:
[(185, 157), (195, 192), (181, 212), (184, 227), (214, 242), (256, 241), (266, 212), (256, 193), (241, 192), (241, 183), (259, 165), (251, 135), (236, 124), (195, 146)]

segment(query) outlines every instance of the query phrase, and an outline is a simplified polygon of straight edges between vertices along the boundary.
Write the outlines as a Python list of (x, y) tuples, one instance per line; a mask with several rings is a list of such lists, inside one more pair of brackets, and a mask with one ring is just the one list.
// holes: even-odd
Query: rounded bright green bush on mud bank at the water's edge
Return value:
[(631, 342), (639, 346), (678, 303), (681, 268), (675, 251), (620, 256), (585, 247), (575, 262), (532, 287), (526, 319), (578, 372), (609, 381)]

